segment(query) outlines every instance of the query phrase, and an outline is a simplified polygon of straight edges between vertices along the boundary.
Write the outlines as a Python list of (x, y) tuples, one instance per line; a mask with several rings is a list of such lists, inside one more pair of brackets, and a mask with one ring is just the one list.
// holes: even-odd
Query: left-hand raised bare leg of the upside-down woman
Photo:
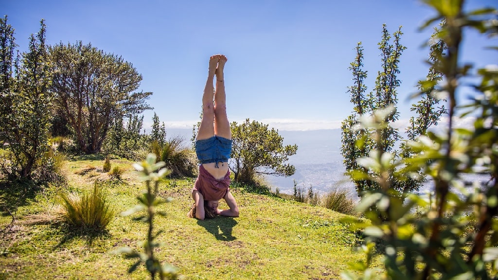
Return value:
[(208, 80), (204, 87), (202, 95), (202, 120), (199, 131), (197, 132), (197, 140), (209, 139), (215, 135), (215, 127), (213, 119), (215, 117), (215, 106), (213, 104), (213, 78), (216, 73), (216, 65), (220, 60), (220, 55), (216, 54), (209, 58)]

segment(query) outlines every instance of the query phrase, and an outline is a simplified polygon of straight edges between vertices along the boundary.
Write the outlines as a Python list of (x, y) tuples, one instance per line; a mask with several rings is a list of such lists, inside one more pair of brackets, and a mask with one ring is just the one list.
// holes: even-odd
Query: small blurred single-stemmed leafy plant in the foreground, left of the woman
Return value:
[[(155, 163), (155, 160), (155, 154), (149, 153), (144, 161), (133, 164), (133, 167), (138, 171), (139, 178), (145, 181), (147, 189), (141, 196), (137, 197), (140, 204), (122, 213), (127, 216), (139, 211), (145, 211), (144, 215), (133, 218), (135, 221), (140, 221), (148, 225), (147, 240), (139, 243), (139, 245), (143, 247), (144, 253), (139, 253), (129, 247), (120, 248), (116, 251), (116, 253), (124, 254), (127, 259), (138, 259), (129, 268), (128, 273), (132, 273), (140, 264), (143, 263), (147, 271), (150, 273), (151, 279), (155, 279), (156, 275), (161, 280), (179, 279), (175, 267), (170, 264), (161, 265), (159, 260), (154, 256), (154, 248), (160, 246), (160, 244), (155, 242), (154, 239), (163, 232), (163, 230), (160, 230), (153, 234), (154, 217), (156, 214), (163, 217), (166, 216), (165, 212), (157, 211), (155, 207), (172, 200), (171, 198), (166, 200), (157, 198), (159, 182), (163, 180), (163, 178), (171, 171), (167, 168), (159, 169), (163, 167), (165, 163), (163, 161)], [(154, 172), (157, 169), (159, 169), (159, 171)]]

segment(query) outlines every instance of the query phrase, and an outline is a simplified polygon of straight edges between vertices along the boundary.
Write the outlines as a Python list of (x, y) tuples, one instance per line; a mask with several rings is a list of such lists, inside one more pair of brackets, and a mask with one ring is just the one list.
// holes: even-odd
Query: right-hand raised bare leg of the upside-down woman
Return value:
[(215, 110), (214, 110), (214, 132), (217, 136), (232, 139), (232, 131), (227, 116), (227, 104), (225, 95), (225, 77), (223, 70), (227, 57), (220, 55), (218, 67), (216, 68), (216, 91), (215, 91)]

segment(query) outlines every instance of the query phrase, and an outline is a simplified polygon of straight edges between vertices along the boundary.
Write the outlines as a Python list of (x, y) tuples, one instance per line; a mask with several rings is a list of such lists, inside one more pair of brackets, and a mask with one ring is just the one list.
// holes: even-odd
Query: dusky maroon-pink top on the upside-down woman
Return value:
[(199, 166), (199, 176), (195, 180), (194, 188), (199, 191), (204, 200), (220, 200), (230, 190), (230, 170), (221, 180), (211, 175), (204, 166)]

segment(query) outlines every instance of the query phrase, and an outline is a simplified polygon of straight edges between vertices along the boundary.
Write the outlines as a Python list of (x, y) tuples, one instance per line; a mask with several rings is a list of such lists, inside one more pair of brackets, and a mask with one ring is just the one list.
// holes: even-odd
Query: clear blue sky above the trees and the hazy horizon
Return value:
[[(91, 42), (121, 55), (142, 74), (139, 90), (153, 92), (145, 127), (155, 112), (168, 128), (192, 128), (199, 120), (208, 58), (228, 57), (225, 79), (229, 119), (246, 118), (280, 130), (338, 128), (352, 110), (346, 92), (357, 42), (365, 48), (367, 85), (380, 69), (377, 42), (382, 24), (390, 33), (402, 25), (407, 49), (399, 64), (401, 119), (411, 114), (408, 96), (427, 74), (432, 30), (418, 27), (434, 13), (416, 0), (0, 0), (15, 28), (20, 50), (45, 19), (47, 43)], [(497, 7), (497, 0), (468, 0), (467, 6)], [(498, 64), (496, 52), (469, 32), (462, 59), (475, 66)]]

